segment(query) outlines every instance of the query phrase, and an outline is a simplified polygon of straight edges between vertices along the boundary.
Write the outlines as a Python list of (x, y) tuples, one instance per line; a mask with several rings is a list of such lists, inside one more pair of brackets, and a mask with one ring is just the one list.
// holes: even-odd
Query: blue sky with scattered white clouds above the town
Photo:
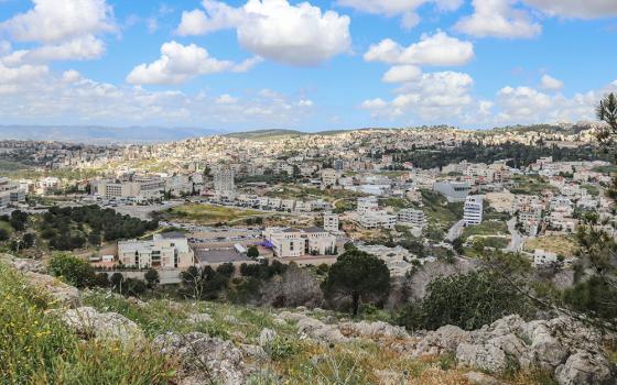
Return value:
[(0, 124), (594, 120), (617, 0), (0, 0)]

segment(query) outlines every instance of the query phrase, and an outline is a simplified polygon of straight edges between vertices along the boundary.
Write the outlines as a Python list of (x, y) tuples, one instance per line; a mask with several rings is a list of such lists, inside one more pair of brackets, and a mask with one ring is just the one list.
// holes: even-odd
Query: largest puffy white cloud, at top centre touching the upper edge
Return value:
[(349, 18), (318, 7), (288, 0), (249, 0), (234, 8), (204, 0), (205, 12), (183, 12), (181, 35), (201, 35), (235, 29), (242, 47), (260, 57), (290, 65), (311, 66), (349, 52)]

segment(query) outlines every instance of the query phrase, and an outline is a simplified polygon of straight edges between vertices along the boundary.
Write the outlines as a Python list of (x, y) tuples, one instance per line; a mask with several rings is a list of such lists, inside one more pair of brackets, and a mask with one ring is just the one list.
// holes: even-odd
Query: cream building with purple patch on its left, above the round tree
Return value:
[(277, 257), (294, 257), (302, 255), (334, 255), (336, 237), (322, 228), (281, 229), (268, 228), (263, 238), (272, 245)]

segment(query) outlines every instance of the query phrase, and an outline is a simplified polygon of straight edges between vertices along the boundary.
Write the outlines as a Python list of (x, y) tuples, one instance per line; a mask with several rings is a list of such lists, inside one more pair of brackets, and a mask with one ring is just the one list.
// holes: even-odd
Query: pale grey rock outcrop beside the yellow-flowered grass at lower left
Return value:
[(97, 338), (134, 342), (143, 339), (143, 331), (130, 319), (117, 312), (99, 312), (91, 307), (54, 310), (59, 319), (84, 339)]

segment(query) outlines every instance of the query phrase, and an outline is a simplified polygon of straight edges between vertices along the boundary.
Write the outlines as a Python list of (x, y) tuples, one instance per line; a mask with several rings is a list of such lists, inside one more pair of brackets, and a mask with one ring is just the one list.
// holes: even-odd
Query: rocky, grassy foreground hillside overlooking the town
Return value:
[(7, 383), (584, 385), (615, 374), (602, 337), (565, 318), (410, 333), (317, 308), (79, 292), (44, 272), (0, 262)]

